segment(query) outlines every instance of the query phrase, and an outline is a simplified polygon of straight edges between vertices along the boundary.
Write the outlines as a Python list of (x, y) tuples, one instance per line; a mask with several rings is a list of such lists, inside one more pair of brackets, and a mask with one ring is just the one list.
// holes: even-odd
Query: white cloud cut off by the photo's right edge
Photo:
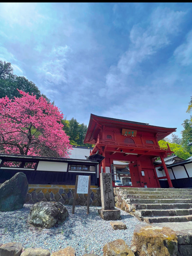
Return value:
[(186, 42), (177, 47), (174, 56), (183, 66), (192, 64), (192, 30), (188, 33)]

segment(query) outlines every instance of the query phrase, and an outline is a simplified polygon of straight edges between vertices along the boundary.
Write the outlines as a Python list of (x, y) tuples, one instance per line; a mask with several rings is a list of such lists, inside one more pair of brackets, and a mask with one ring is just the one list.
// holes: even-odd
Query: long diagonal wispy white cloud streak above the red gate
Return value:
[(106, 75), (107, 95), (125, 94), (133, 86), (132, 77), (141, 75), (140, 65), (161, 48), (170, 44), (170, 36), (179, 32), (185, 12), (157, 8), (150, 17), (150, 24), (143, 29), (140, 24), (130, 32), (128, 50), (122, 54), (116, 66)]

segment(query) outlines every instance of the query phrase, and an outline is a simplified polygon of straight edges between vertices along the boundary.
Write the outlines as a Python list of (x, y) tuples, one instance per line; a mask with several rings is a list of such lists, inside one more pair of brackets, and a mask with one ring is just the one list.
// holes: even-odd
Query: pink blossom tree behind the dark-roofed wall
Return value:
[(19, 91), (21, 98), (0, 99), (1, 152), (67, 157), (71, 148), (59, 109), (45, 98)]

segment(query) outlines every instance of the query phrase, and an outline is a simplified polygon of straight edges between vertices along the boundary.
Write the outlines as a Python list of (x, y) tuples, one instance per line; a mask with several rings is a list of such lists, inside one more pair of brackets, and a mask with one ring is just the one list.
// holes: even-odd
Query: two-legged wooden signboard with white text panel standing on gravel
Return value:
[(75, 212), (75, 202), (76, 202), (77, 194), (87, 194), (87, 214), (89, 214), (90, 185), (91, 185), (91, 176), (86, 176), (86, 175), (76, 176), (72, 214), (74, 214)]

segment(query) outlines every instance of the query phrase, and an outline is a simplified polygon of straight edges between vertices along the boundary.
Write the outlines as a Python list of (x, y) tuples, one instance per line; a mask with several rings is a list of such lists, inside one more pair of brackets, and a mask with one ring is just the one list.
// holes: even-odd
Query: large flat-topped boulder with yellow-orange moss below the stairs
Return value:
[(176, 256), (177, 235), (169, 227), (135, 227), (131, 249), (140, 256)]

